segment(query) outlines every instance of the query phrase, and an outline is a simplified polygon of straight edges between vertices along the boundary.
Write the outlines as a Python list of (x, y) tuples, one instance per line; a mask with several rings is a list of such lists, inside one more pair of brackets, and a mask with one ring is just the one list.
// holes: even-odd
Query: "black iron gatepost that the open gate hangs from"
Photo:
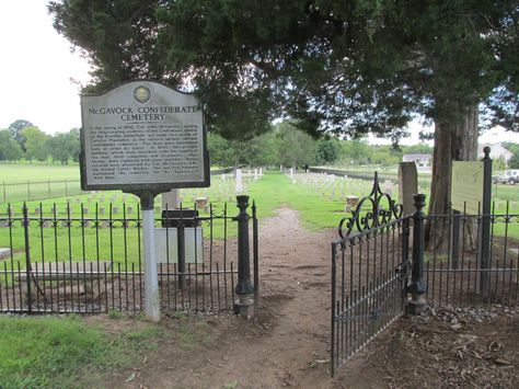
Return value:
[(425, 299), (427, 286), (424, 282), (425, 215), (422, 211), (422, 208), (425, 206), (425, 194), (415, 194), (413, 198), (416, 208), (413, 214), (413, 264), (411, 270), (411, 283), (407, 286), (411, 300), (407, 301), (405, 311), (408, 314), (420, 314), (427, 308), (427, 301)]

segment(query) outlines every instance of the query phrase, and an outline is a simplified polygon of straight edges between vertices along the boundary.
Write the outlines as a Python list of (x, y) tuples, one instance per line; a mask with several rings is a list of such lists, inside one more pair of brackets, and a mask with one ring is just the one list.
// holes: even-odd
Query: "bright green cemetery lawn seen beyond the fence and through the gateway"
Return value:
[[(518, 185), (519, 186), (519, 185)], [(366, 185), (360, 186), (358, 191), (362, 193), (355, 193), (359, 197), (368, 194), (370, 190), (370, 184), (366, 182)], [(505, 190), (516, 190), (516, 187), (506, 187)], [(214, 188), (207, 190), (187, 190), (182, 191), (181, 194), (184, 194), (184, 197), (189, 199), (192, 197), (200, 196), (203, 193), (208, 193), (210, 198), (216, 198)], [(350, 193), (348, 193), (350, 194)], [(137, 198), (131, 195), (128, 195), (126, 199), (123, 199), (120, 192), (104, 192), (95, 194), (95, 198), (92, 198), (91, 195), (81, 195), (78, 197), (71, 197), (71, 207), (72, 207), (72, 219), (78, 219), (81, 216), (81, 204), (88, 208), (85, 217), (95, 218), (95, 202), (101, 202), (101, 196), (104, 196), (104, 202), (99, 203), (99, 209), (103, 207), (105, 214), (97, 214), (100, 219), (107, 218), (107, 211), (109, 207), (111, 196), (115, 195), (116, 199), (113, 203), (113, 206), (117, 206), (119, 210), (123, 209), (123, 202), (126, 205), (132, 206), (134, 214), (127, 214), (127, 218), (137, 217), (138, 203)], [(286, 175), (280, 173), (268, 173), (265, 174), (260, 181), (251, 181), (249, 183), (249, 195), (251, 201), (254, 199), (257, 204), (258, 217), (264, 218), (273, 216), (276, 209), (281, 206), (287, 206), (292, 209), (296, 209), (299, 213), (300, 220), (304, 228), (318, 231), (325, 228), (336, 228), (338, 221), (347, 215), (344, 211), (344, 199), (334, 199), (331, 201), (328, 197), (323, 197), (321, 194), (315, 193), (315, 191), (305, 184), (292, 184)], [(79, 198), (79, 202), (76, 202), (76, 198)], [(53, 204), (56, 204), (56, 207), (59, 209), (58, 218), (66, 218), (65, 207), (66, 198), (57, 198), (46, 202), (30, 202), (27, 203), (28, 209), (34, 213), (36, 206), (42, 206), (45, 217), (51, 217), (51, 207)], [(13, 203), (16, 214), (21, 215), (22, 203)], [(217, 211), (221, 211), (222, 203), (215, 204)], [(517, 204), (516, 204), (517, 206)], [(84, 208), (83, 208), (84, 209)], [(504, 203), (500, 208), (497, 209), (497, 213), (505, 213), (506, 208)], [(511, 211), (517, 211), (512, 209)], [(251, 210), (250, 210), (251, 211)], [(5, 215), (5, 210), (1, 214)], [(228, 204), (229, 216), (235, 216), (238, 214), (238, 208), (234, 203)], [(207, 214), (201, 214), (207, 216)], [(36, 217), (36, 216), (32, 216)], [(123, 218), (123, 214), (113, 215), (114, 218)], [(159, 217), (159, 213), (155, 213), (155, 217)], [(89, 227), (81, 228), (79, 226), (79, 220), (72, 222), (72, 228), (69, 229), (64, 227), (58, 227), (56, 230), (54, 228), (39, 228), (38, 224), (33, 221), (30, 228), (30, 247), (31, 247), (31, 259), (32, 262), (41, 262), (42, 258), (46, 262), (49, 261), (114, 261), (122, 265), (122, 271), (127, 266), (128, 270), (131, 268), (131, 264), (138, 267), (138, 264), (142, 262), (142, 244), (141, 238), (139, 237), (139, 231), (135, 228), (135, 222), (130, 224), (130, 228), (122, 228), (120, 221), (116, 222), (116, 227), (113, 229), (109, 228), (100, 228), (96, 230), (93, 227), (93, 224)], [(208, 225), (205, 227), (204, 234), (206, 239), (209, 238), (209, 228)], [(495, 226), (496, 234), (504, 234), (504, 226)], [(511, 222), (508, 226), (508, 236), (510, 238), (519, 238), (519, 225), (517, 222)], [(215, 239), (221, 239), (224, 236), (223, 221), (215, 220), (212, 237)], [(237, 225), (235, 222), (228, 221), (227, 237), (233, 238), (237, 236)], [(15, 249), (14, 262), (21, 261), (21, 268), (24, 268), (25, 254), (24, 254), (24, 234), (23, 229), (21, 228), (21, 222), (16, 221), (15, 228), (12, 229), (12, 234), (9, 234), (9, 229), (0, 229), (0, 247), (12, 247)], [(16, 268), (16, 264), (15, 268)], [(10, 261), (4, 261), (3, 266), (11, 266)], [(3, 267), (2, 266), (2, 267)], [(3, 270), (3, 268), (1, 268)]]

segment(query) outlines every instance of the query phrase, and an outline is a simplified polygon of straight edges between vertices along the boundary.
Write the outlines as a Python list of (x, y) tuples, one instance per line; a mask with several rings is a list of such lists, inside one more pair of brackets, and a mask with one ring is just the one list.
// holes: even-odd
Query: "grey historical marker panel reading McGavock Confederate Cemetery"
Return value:
[(81, 96), (83, 190), (209, 186), (203, 108), (192, 95), (131, 81)]

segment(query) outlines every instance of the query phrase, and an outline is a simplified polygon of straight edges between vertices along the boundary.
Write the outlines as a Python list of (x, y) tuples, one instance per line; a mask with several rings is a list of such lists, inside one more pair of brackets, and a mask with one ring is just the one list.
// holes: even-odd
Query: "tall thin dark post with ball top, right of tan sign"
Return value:
[(482, 204), (482, 224), (480, 229), (480, 294), (483, 297), (488, 296), (491, 267), (491, 203), (492, 203), (492, 159), (491, 148), (486, 146), (483, 149), (483, 204)]

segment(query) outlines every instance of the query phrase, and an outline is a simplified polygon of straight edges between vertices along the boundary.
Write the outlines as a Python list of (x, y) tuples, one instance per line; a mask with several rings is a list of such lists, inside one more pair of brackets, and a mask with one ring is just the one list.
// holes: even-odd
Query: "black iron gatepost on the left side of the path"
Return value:
[(249, 253), (249, 196), (237, 196), (237, 202), (240, 214), (234, 218), (238, 221), (238, 299), (234, 302), (234, 313), (251, 318), (254, 316), (254, 287), (251, 284)]

